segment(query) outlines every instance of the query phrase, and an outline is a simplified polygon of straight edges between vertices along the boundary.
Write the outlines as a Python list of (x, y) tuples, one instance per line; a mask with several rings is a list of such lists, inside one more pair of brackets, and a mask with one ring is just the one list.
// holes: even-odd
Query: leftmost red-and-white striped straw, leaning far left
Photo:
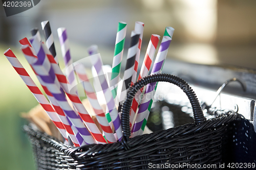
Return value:
[(13, 52), (11, 51), (10, 48), (7, 51), (5, 51), (4, 55), (6, 56), (8, 61), (11, 63), (13, 68), (16, 70), (16, 72), (20, 76), (20, 78), (22, 78), (22, 80), (27, 85), (29, 90), (32, 92), (32, 94), (34, 95), (34, 97), (37, 100), (37, 102), (42, 106), (42, 108), (44, 108), (46, 113), (49, 115), (49, 117), (51, 118), (52, 122), (57, 127), (57, 129), (59, 130), (60, 134), (67, 140), (67, 135), (66, 135), (65, 127), (61, 123), (57, 113), (52, 108), (52, 106), (50, 105), (50, 103), (48, 102), (48, 100), (46, 99), (44, 94), (42, 94), (42, 92), (36, 86), (34, 81), (31, 79), (31, 77), (29, 76), (29, 74), (26, 71), (26, 69), (18, 61), (18, 59), (13, 54)]

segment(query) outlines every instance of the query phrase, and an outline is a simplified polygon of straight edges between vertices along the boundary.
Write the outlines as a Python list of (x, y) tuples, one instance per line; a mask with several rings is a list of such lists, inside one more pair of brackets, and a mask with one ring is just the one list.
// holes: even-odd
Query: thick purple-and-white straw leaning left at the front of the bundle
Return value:
[[(33, 40), (33, 43), (35, 41), (36, 41), (36, 39)], [(33, 43), (32, 43), (32, 45), (33, 45)], [(59, 82), (58, 82), (58, 80), (55, 77), (53, 68), (51, 67), (51, 64), (50, 64), (50, 62), (48, 60), (48, 57), (46, 56), (46, 54), (44, 52), (45, 49), (42, 47), (42, 45), (44, 45), (44, 44), (41, 43), (40, 46), (38, 45), (39, 46), (39, 50), (36, 48), (38, 46), (35, 46), (35, 47), (33, 46), (35, 51), (38, 52), (37, 53), (38, 60), (36, 61), (36, 63), (32, 63), (31, 61), (29, 61), (30, 64), (32, 65), (32, 67), (35, 70), (36, 74), (45, 83), (45, 85), (48, 88), (49, 92), (56, 99), (57, 104), (63, 110), (64, 116), (68, 116), (70, 118), (72, 124), (77, 128), (78, 132), (82, 136), (82, 139), (86, 143), (95, 143), (95, 141), (93, 140), (93, 137), (88, 132), (87, 128), (84, 127), (84, 125), (81, 122), (81, 120), (79, 119), (79, 117), (75, 114), (73, 109), (68, 104), (66, 96), (65, 96), (65, 93), (62, 91), (62, 89), (59, 86)], [(27, 53), (27, 52), (30, 50), (30, 48), (28, 48), (28, 47), (25, 48), (25, 47), (26, 46), (22, 47), (22, 51), (24, 52), (25, 57), (28, 58), (29, 53)], [(47, 49), (46, 46), (45, 46), (45, 48)], [(31, 53), (32, 53), (32, 51), (30, 51), (30, 54)], [(52, 57), (52, 60), (54, 60), (53, 57)], [(55, 110), (56, 109), (57, 108), (55, 108)], [(77, 138), (77, 140), (80, 140), (80, 139)]]

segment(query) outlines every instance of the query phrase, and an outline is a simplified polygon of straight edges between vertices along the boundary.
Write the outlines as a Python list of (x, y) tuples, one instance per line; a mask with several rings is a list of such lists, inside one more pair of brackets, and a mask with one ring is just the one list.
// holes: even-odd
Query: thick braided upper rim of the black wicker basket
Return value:
[[(153, 132), (150, 134), (143, 134), (140, 136), (136, 136), (130, 138), (127, 141), (127, 144), (130, 145), (130, 150), (136, 148), (139, 144), (150, 144), (151, 142), (158, 140), (167, 140), (168, 138), (188, 135), (191, 133), (199, 133), (205, 130), (216, 130), (221, 128), (228, 123), (232, 122), (232, 120), (236, 119), (238, 113), (228, 110), (227, 112), (223, 112), (217, 117), (207, 119), (204, 123), (196, 125), (195, 123), (189, 123), (181, 126), (177, 126), (175, 128), (169, 128), (167, 130), (160, 130), (157, 132)], [(71, 145), (67, 145), (59, 141), (58, 139), (47, 135), (46, 133), (42, 133), (39, 131), (35, 131), (28, 125), (23, 126), (23, 130), (33, 137), (37, 139), (43, 140), (50, 145), (52, 145), (55, 149), (62, 152), (63, 154), (76, 158), (83, 159), (92, 156), (98, 156), (106, 153), (110, 153), (113, 151), (126, 151), (122, 145), (121, 141), (117, 141), (115, 143), (106, 143), (106, 144), (87, 144), (82, 147), (73, 147)], [(128, 150), (129, 152), (129, 150)]]

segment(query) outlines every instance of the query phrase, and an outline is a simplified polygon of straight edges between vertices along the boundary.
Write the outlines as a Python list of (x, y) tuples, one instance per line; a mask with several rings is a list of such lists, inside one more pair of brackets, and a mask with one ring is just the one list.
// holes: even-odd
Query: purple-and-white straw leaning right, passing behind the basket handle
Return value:
[[(168, 52), (168, 47), (170, 44), (170, 41), (172, 40), (172, 38), (168, 37), (168, 36), (164, 36), (161, 42), (161, 45), (159, 47), (157, 56), (156, 56), (156, 60), (155, 63), (153, 65), (152, 71), (151, 71), (151, 75), (155, 75), (161, 72), (161, 68), (163, 66), (164, 60), (166, 58), (167, 52)], [(146, 90), (144, 93), (144, 99), (141, 101), (140, 107), (139, 107), (139, 111), (135, 120), (135, 124), (133, 126), (132, 129), (132, 137), (139, 135), (140, 129), (142, 127), (145, 127), (146, 124), (146, 120), (144, 120), (146, 114), (148, 114), (150, 111), (148, 110), (148, 108), (151, 108), (151, 105), (153, 103), (152, 100), (152, 96), (154, 96), (155, 94), (155, 88), (156, 83), (150, 83), (147, 84), (146, 86)], [(148, 112), (148, 113), (147, 113)], [(143, 129), (141, 130), (143, 132)]]

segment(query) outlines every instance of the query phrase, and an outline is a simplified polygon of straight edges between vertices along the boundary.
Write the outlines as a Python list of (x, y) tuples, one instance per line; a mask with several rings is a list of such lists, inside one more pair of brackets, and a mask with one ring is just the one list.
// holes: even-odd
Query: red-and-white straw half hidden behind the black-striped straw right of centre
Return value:
[(135, 29), (137, 33), (140, 34), (139, 38), (139, 45), (138, 45), (138, 50), (135, 58), (135, 65), (134, 65), (134, 71), (133, 71), (133, 77), (132, 77), (132, 85), (137, 81), (137, 71), (138, 71), (138, 65), (139, 65), (139, 59), (140, 59), (140, 48), (141, 48), (141, 42), (142, 42), (142, 37), (143, 37), (143, 30), (144, 30), (144, 23), (143, 22), (135, 22)]

